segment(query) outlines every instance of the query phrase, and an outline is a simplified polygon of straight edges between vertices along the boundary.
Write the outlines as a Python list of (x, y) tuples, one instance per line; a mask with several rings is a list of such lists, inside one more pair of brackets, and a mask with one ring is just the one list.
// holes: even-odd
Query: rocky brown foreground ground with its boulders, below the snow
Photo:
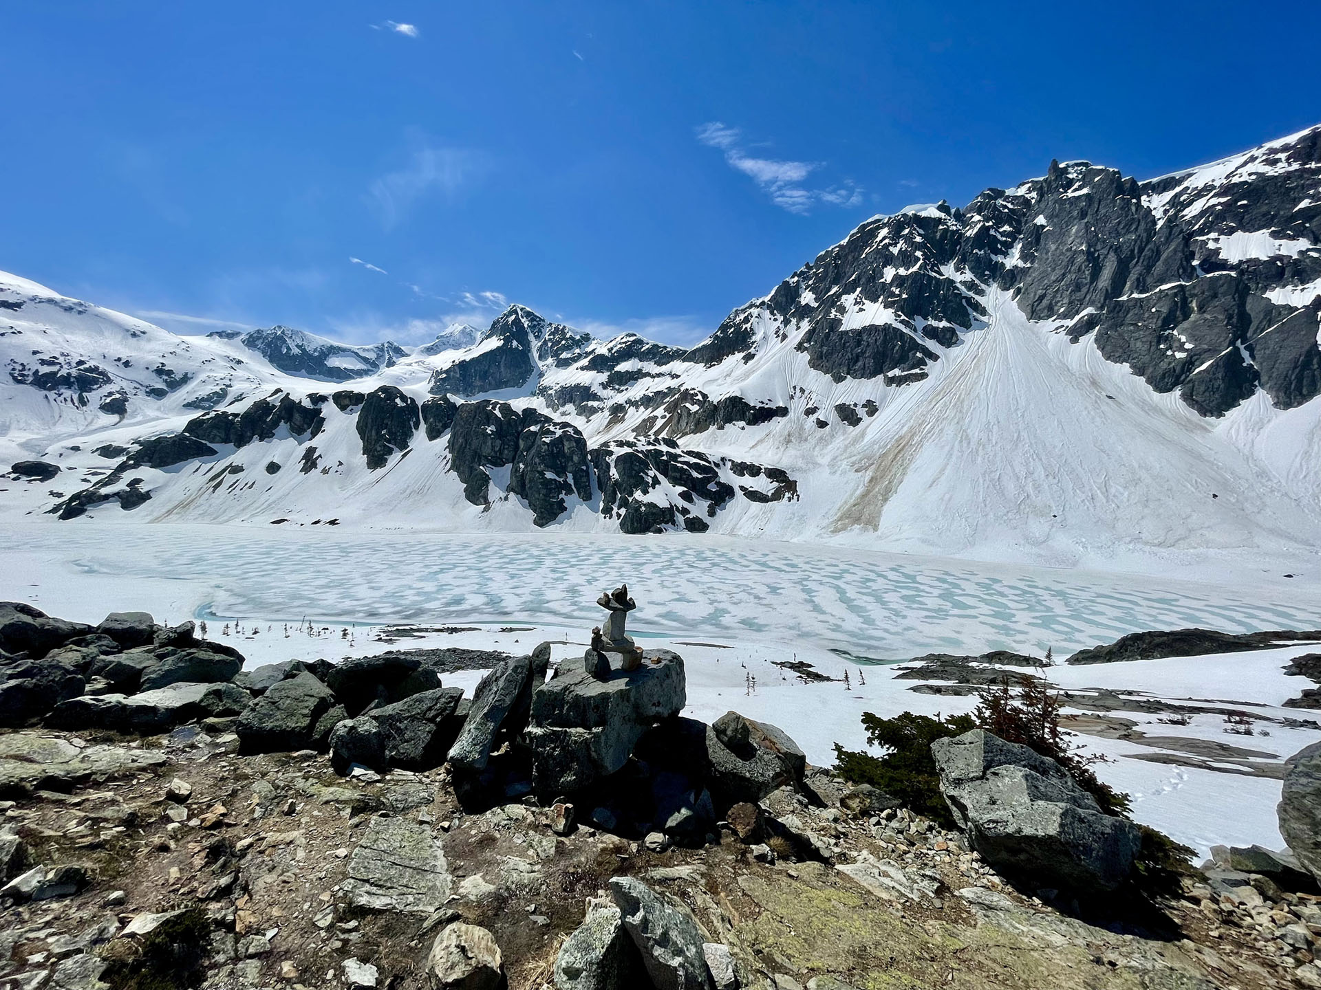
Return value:
[[(1030, 775), (1057, 768), (995, 737), (950, 755), (966, 830), (947, 832), (807, 766), (775, 726), (680, 718), (664, 651), (633, 672), (589, 651), (548, 680), (543, 647), (160, 685), (232, 651), (141, 614), (50, 623), (0, 620), (0, 711), (18, 698), (45, 722), (0, 733), (5, 990), (1321, 985), (1318, 898), (1266, 850), (1223, 850), (1157, 923), (1090, 924), (1007, 883), (985, 781), (1026, 781), (1025, 828), (1089, 809), (1041, 800)], [(469, 661), (491, 667), (472, 698), (440, 685)], [(1028, 866), (1066, 875), (1090, 851)]]

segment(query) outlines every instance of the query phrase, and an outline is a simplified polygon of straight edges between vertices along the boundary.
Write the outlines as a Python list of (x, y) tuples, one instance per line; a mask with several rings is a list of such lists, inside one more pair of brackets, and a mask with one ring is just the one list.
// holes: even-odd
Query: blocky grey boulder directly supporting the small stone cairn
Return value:
[(532, 785), (542, 795), (568, 793), (616, 772), (643, 733), (686, 704), (683, 657), (668, 649), (647, 651), (638, 669), (610, 671), (605, 680), (572, 665), (532, 693), (523, 733)]

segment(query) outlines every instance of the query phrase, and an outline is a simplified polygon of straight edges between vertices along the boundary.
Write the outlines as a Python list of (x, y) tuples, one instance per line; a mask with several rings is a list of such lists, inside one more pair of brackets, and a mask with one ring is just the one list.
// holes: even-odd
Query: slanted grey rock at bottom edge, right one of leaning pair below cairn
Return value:
[(612, 878), (610, 896), (655, 990), (709, 990), (705, 940), (686, 907), (635, 876)]

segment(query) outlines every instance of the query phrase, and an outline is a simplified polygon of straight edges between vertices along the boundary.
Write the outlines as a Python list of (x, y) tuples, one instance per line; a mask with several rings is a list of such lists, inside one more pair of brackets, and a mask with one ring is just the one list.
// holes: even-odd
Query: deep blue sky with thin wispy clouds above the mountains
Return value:
[(63, 0), (0, 37), (0, 268), (184, 331), (507, 300), (694, 342), (876, 213), (1321, 121), (1312, 0)]

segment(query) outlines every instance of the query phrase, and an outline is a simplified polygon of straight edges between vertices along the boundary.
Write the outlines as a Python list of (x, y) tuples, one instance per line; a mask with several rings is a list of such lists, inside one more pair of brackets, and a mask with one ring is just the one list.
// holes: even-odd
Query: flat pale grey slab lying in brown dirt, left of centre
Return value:
[(453, 880), (429, 828), (404, 818), (373, 818), (349, 858), (345, 887), (354, 907), (429, 915), (445, 903)]

